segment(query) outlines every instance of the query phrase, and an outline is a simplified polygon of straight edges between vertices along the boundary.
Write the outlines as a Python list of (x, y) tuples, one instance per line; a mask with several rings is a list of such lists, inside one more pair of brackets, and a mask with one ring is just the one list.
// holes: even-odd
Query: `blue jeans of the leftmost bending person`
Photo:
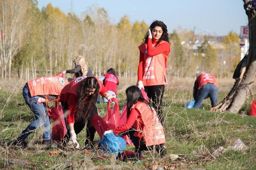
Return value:
[(30, 133), (36, 131), (39, 127), (44, 125), (43, 139), (49, 140), (50, 137), (50, 119), (46, 113), (47, 109), (45, 103), (36, 103), (39, 96), (31, 97), (28, 86), (25, 85), (22, 91), (22, 95), (28, 107), (32, 110), (35, 116), (35, 120), (28, 125), (28, 127), (22, 131), (18, 139), (26, 139)]

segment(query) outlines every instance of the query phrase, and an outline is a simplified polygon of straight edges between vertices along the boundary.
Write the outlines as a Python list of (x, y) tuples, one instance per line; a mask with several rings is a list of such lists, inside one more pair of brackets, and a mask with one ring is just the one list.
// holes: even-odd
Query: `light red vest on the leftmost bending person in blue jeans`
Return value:
[(68, 84), (68, 81), (60, 76), (46, 76), (30, 80), (28, 88), (33, 96), (39, 95), (60, 95), (61, 90)]

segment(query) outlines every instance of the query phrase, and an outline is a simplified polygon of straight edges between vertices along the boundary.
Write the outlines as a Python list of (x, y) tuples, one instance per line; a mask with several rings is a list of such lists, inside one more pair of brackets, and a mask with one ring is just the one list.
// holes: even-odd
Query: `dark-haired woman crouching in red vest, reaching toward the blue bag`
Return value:
[(165, 156), (167, 151), (163, 147), (165, 136), (156, 110), (147, 102), (137, 86), (126, 89), (127, 121), (124, 125), (116, 127), (113, 133), (128, 132), (138, 158), (143, 155), (143, 150), (156, 149), (160, 156)]

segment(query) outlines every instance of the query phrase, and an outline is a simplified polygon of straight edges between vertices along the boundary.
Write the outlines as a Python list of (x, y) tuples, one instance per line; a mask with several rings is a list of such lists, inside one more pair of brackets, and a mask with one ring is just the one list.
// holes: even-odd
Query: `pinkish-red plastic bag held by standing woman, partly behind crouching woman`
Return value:
[[(149, 102), (148, 96), (147, 96), (146, 92), (144, 91), (144, 89), (141, 88), (140, 91), (141, 91), (144, 99)], [(123, 125), (127, 121), (127, 109), (126, 109), (126, 106), (127, 106), (127, 104), (124, 104), (124, 107), (123, 107), (123, 110), (122, 110), (122, 114), (120, 116), (119, 126)], [(124, 135), (123, 138), (126, 141), (127, 145), (133, 145), (131, 139), (127, 135)]]

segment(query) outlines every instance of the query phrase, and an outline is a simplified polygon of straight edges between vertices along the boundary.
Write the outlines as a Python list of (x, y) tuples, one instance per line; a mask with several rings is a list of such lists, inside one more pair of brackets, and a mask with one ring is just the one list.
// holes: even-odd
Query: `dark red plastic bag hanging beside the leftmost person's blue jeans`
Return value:
[(63, 108), (55, 102), (54, 107), (50, 107), (47, 114), (53, 119), (52, 140), (60, 142), (67, 133), (66, 123), (64, 120)]

